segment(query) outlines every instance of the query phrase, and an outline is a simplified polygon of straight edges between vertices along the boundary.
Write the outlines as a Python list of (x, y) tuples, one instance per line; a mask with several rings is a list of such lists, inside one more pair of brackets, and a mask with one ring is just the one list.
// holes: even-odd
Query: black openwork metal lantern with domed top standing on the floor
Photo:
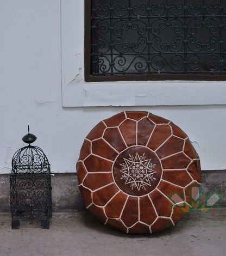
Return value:
[(42, 227), (48, 229), (52, 216), (50, 164), (39, 147), (30, 145), (36, 136), (29, 132), (29, 126), (22, 140), (29, 145), (12, 157), (10, 174), (12, 229), (20, 221), (41, 221)]

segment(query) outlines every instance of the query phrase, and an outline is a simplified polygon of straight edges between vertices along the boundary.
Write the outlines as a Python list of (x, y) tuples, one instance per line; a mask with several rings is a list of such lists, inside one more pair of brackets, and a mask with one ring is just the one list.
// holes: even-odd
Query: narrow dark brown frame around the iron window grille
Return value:
[(226, 81), (226, 74), (125, 74), (91, 75), (91, 0), (85, 0), (85, 40), (84, 40), (85, 82), (114, 81)]

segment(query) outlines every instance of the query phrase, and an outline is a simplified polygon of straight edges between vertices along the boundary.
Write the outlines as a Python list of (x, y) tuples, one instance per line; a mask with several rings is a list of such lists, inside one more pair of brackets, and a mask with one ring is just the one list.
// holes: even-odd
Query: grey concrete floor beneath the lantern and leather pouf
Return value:
[(1, 256), (225, 256), (226, 210), (187, 214), (177, 226), (158, 234), (127, 235), (106, 227), (88, 213), (58, 212), (49, 230), (40, 222), (21, 222), (11, 230), (9, 214), (0, 214)]

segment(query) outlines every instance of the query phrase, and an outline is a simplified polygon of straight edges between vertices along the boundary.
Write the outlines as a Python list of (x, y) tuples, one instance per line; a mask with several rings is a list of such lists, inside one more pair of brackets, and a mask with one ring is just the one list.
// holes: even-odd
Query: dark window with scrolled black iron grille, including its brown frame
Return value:
[(85, 80), (225, 80), (226, 0), (85, 1)]

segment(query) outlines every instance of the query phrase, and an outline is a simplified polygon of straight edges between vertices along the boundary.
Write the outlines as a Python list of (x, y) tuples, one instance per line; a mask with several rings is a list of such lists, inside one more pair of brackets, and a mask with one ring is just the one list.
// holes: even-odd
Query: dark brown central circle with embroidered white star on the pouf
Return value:
[(144, 146), (123, 150), (112, 164), (118, 188), (131, 196), (144, 196), (158, 186), (162, 167), (158, 155)]

